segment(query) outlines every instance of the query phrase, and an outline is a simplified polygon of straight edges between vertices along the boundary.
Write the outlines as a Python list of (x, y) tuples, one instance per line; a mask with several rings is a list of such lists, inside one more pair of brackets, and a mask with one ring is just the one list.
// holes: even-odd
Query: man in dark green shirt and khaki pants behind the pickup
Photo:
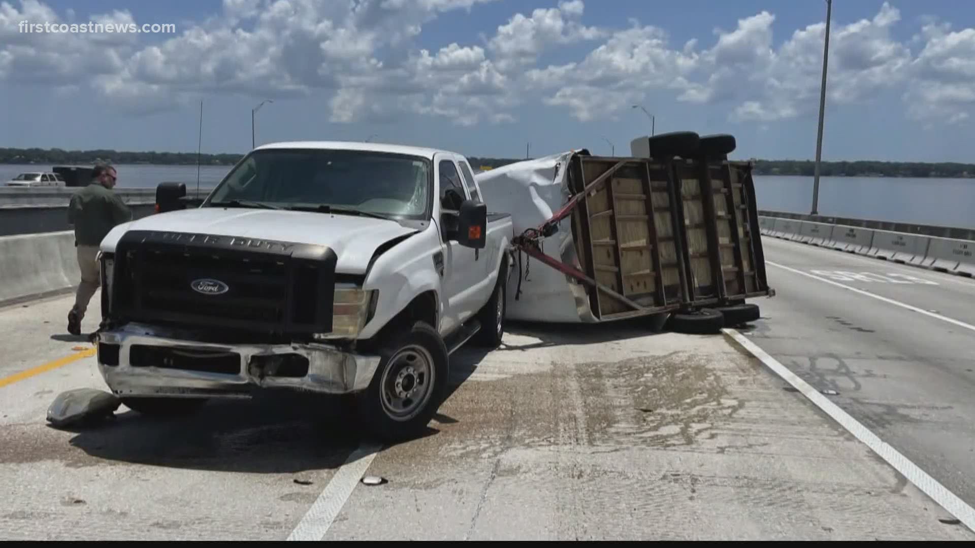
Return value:
[(92, 172), (92, 182), (71, 196), (67, 208), (67, 221), (74, 225), (74, 245), (81, 270), (74, 307), (67, 315), (67, 331), (71, 334), (81, 334), (81, 320), (100, 285), (98, 245), (115, 225), (132, 220), (129, 207), (111, 190), (117, 179), (115, 168), (98, 164)]

